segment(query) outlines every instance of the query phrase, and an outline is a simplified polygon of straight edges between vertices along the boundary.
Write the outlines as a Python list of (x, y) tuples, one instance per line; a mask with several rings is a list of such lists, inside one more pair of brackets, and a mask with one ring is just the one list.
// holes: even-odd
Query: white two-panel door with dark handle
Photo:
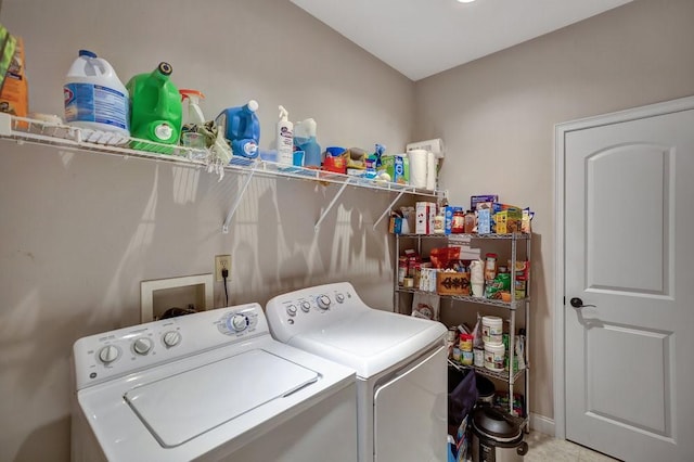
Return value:
[(694, 460), (689, 107), (563, 133), (566, 439), (627, 461)]

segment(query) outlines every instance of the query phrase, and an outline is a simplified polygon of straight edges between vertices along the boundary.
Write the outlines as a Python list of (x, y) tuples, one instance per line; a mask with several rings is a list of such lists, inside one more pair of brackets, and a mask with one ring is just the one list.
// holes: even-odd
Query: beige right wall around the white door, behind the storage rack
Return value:
[[(694, 2), (637, 0), (416, 84), (415, 139), (442, 138), (452, 203), (536, 213), (531, 411), (552, 418), (554, 125), (694, 94)], [(561, 354), (561, 351), (556, 351)]]

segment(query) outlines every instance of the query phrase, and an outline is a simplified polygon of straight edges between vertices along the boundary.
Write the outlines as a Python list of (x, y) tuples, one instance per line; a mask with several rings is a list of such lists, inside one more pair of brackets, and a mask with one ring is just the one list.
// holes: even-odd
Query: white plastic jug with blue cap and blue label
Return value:
[(130, 136), (128, 90), (111, 64), (95, 53), (79, 50), (67, 72), (63, 97), (68, 124)]

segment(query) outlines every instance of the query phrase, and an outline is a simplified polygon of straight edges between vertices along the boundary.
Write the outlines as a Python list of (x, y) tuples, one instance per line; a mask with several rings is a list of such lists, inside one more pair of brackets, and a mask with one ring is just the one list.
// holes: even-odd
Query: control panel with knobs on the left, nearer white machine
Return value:
[(270, 335), (258, 304), (201, 311), (75, 342), (76, 388), (258, 335)]

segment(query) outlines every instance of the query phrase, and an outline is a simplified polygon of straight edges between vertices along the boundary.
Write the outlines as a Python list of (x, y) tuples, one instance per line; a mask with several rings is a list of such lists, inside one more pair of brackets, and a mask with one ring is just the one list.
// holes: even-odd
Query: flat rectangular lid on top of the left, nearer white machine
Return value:
[(133, 388), (124, 398), (159, 445), (172, 448), (318, 377), (254, 349)]

